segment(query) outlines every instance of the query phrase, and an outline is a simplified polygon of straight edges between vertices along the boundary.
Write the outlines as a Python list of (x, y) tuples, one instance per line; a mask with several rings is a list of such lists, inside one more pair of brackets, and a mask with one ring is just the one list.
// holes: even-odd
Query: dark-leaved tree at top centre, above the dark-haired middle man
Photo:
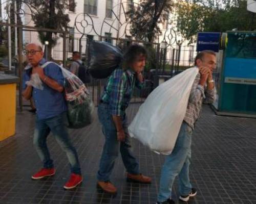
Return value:
[(127, 12), (133, 22), (131, 32), (135, 38), (142, 40), (146, 37), (149, 42), (154, 42), (161, 34), (159, 23), (168, 20), (172, 7), (172, 0), (141, 0), (139, 7)]

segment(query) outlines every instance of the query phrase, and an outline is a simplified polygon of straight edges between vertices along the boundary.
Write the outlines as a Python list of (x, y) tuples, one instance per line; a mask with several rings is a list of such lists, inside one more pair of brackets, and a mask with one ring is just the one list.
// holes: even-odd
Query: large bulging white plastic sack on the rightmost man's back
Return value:
[(158, 86), (140, 106), (130, 136), (157, 153), (171, 154), (197, 74), (198, 68), (189, 68)]

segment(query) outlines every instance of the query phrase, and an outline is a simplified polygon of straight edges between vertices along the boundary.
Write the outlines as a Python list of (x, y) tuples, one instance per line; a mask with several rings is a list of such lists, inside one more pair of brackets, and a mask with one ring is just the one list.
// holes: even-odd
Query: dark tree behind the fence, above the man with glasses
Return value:
[[(32, 14), (32, 19), (37, 28), (54, 29), (58, 31), (68, 31), (70, 28), (68, 23), (70, 21), (69, 15), (65, 14), (65, 11), (70, 6), (75, 7), (75, 3), (70, 5), (69, 0), (27, 0), (33, 8), (37, 8)], [(47, 47), (48, 59), (51, 59), (52, 47), (56, 44), (58, 36), (53, 32), (38, 32), (40, 42), (45, 44), (45, 41), (49, 42)]]

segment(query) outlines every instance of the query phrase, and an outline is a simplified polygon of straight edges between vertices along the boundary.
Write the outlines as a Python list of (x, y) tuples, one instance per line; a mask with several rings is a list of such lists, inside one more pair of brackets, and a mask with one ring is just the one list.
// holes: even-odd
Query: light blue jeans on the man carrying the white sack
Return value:
[(179, 191), (187, 195), (191, 191), (189, 165), (193, 130), (183, 121), (172, 154), (167, 155), (161, 171), (160, 188), (157, 200), (163, 202), (172, 196), (175, 177), (179, 177)]

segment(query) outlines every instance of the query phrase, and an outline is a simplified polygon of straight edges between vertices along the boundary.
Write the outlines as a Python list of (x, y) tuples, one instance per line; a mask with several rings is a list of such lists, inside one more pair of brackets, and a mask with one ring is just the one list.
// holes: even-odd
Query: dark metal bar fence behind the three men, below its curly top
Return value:
[[(106, 36), (91, 36), (91, 35), (82, 35), (80, 38), (74, 38), (70, 35), (69, 32), (62, 32), (57, 30), (50, 29), (36, 29), (34, 27), (27, 27), (24, 25), (14, 25), (8, 23), (1, 23), (2, 26), (10, 26), (12, 29), (17, 27), (19, 30), (19, 40), (18, 40), (18, 49), (17, 56), (12, 57), (11, 69), (6, 69), (6, 66), (1, 68), (0, 71), (6, 73), (15, 74), (20, 78), (19, 83), (19, 100), (18, 106), (22, 110), (23, 100), (21, 96), (22, 92), (22, 70), (24, 64), (22, 62), (25, 56), (23, 56), (23, 49), (27, 43), (38, 42), (38, 32), (52, 32), (54, 33), (54, 38), (58, 38), (56, 45), (53, 46), (51, 56), (53, 60), (59, 64), (62, 64), (64, 67), (69, 67), (69, 59), (72, 57), (73, 51), (80, 51), (82, 56), (82, 61), (85, 65), (89, 66), (89, 54), (88, 46), (91, 40), (101, 40), (110, 42), (115, 46), (118, 46), (125, 52), (125, 49), (132, 43), (138, 43), (144, 45), (148, 51), (147, 63), (144, 70), (144, 88), (141, 90), (135, 89), (131, 102), (132, 103), (142, 103), (148, 94), (151, 93), (154, 88), (156, 88), (159, 83), (166, 81), (184, 70), (185, 68), (192, 66), (194, 64), (195, 50), (194, 48), (187, 46), (178, 46), (175, 48), (160, 48), (160, 43), (148, 43), (144, 41), (137, 41), (132, 39), (117, 39)], [(42, 47), (47, 50), (46, 44), (43, 44)], [(6, 58), (8, 60), (8, 57)], [(22, 59), (20, 62), (18, 59)], [(97, 80), (92, 79), (92, 82), (87, 84), (88, 89), (91, 92), (95, 106), (99, 103), (99, 98), (104, 89), (106, 79)]]

